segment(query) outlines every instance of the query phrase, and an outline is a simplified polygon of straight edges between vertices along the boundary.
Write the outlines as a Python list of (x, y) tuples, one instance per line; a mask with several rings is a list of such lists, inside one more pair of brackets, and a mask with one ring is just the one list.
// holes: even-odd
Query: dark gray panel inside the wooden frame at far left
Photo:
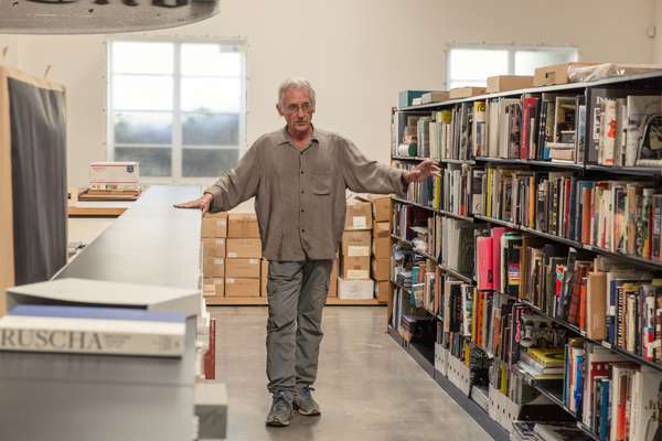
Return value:
[(66, 263), (64, 94), (8, 78), (15, 284)]

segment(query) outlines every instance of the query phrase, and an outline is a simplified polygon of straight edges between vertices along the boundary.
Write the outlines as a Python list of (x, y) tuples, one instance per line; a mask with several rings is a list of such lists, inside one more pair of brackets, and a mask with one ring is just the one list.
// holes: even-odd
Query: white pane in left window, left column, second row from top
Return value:
[(115, 75), (113, 106), (121, 110), (172, 110), (172, 77)]

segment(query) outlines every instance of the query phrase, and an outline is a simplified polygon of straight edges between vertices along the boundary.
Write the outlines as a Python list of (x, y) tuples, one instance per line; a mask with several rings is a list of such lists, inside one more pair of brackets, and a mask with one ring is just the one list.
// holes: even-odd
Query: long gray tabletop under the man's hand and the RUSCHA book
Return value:
[[(55, 278), (196, 290), (197, 186), (152, 186)], [(0, 353), (0, 440), (189, 441), (195, 318), (182, 358)]]

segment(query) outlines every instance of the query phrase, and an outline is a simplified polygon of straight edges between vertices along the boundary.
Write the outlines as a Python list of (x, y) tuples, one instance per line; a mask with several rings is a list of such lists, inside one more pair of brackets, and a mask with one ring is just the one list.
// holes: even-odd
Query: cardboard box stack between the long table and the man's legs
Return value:
[(202, 219), (202, 249), (205, 295), (266, 297), (268, 262), (261, 259), (255, 214), (205, 215)]

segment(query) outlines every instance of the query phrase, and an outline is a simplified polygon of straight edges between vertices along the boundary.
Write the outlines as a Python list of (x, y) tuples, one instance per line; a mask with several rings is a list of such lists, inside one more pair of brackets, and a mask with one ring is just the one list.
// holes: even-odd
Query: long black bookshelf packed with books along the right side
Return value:
[(389, 334), (494, 439), (655, 439), (662, 73), (403, 107), (392, 126), (394, 166), (441, 171), (394, 197)]

